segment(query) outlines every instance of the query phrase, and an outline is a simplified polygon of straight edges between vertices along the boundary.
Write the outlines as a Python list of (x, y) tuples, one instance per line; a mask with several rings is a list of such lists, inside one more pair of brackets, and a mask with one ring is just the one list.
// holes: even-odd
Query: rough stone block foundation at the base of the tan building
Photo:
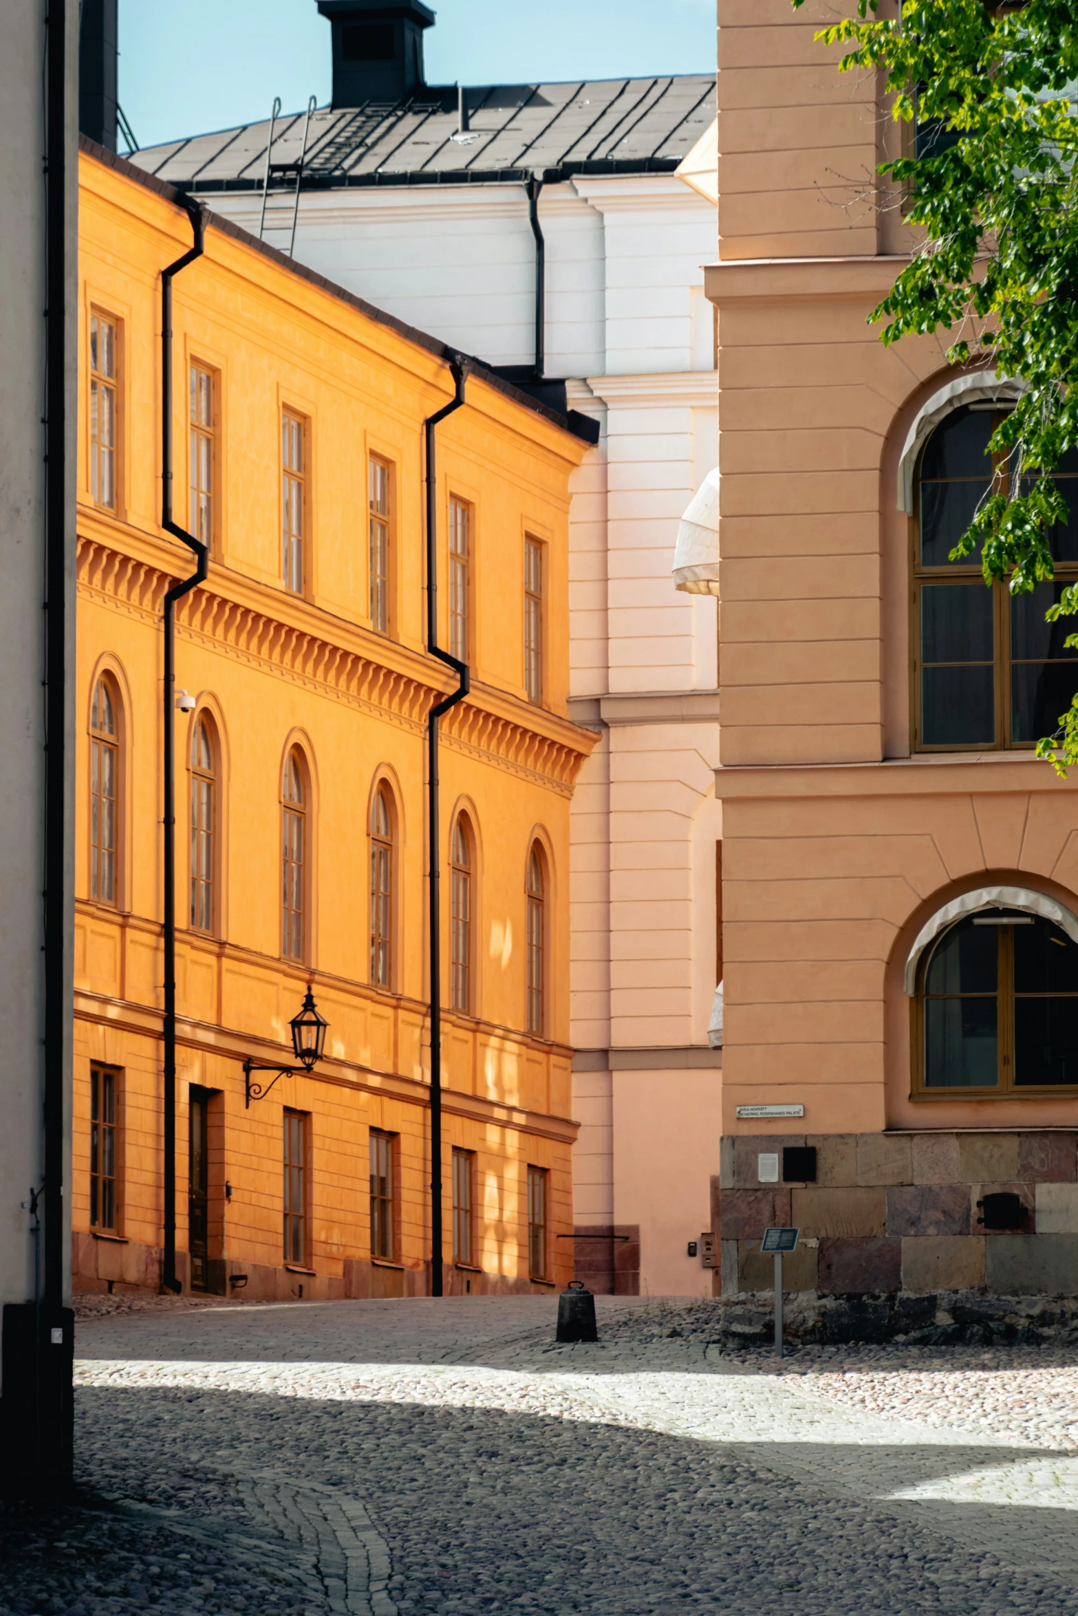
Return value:
[[(815, 1146), (815, 1183), (782, 1178), (790, 1146)], [(777, 1183), (761, 1181), (769, 1165), (761, 1155), (777, 1155)], [(760, 1251), (761, 1235), (794, 1223), (800, 1239), (784, 1264), (785, 1290), (821, 1302), (876, 1298), (868, 1314), (894, 1315), (889, 1335), (903, 1333), (895, 1298), (920, 1317), (921, 1302), (952, 1293), (1078, 1296), (1076, 1165), (1078, 1131), (1070, 1130), (727, 1138), (713, 1185), (716, 1294), (768, 1291), (773, 1259)], [(991, 1194), (1017, 1197), (1017, 1228), (978, 1222), (986, 1215), (978, 1204)]]

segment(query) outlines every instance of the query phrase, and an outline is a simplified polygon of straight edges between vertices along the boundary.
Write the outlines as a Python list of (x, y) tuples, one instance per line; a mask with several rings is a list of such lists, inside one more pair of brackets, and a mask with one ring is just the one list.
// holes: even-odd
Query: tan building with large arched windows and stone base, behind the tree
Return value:
[[(1078, 664), (949, 561), (1013, 386), (866, 323), (916, 242), (900, 129), (813, 40), (719, 0), (726, 1029), (721, 1283), (1073, 1294), (1078, 798), (1033, 756)], [(915, 1306), (913, 1301), (910, 1306)], [(929, 1317), (929, 1322), (931, 1322)], [(945, 1320), (944, 1320), (945, 1322)]]

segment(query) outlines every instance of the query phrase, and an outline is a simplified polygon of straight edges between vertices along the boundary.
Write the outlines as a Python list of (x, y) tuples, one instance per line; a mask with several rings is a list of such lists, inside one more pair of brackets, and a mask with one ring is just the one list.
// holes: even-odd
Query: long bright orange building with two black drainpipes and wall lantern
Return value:
[[(162, 1267), (162, 268), (183, 199), (82, 142), (74, 1285)], [(176, 1272), (428, 1288), (423, 420), (448, 354), (231, 223), (175, 278)], [(571, 1273), (564, 417), (474, 367), (438, 427), (446, 1290)], [(291, 1060), (307, 984), (325, 1055)]]

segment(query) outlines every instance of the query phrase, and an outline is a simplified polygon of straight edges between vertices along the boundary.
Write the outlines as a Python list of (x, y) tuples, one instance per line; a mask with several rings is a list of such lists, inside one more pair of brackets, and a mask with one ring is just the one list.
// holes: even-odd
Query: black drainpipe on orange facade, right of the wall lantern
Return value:
[(423, 422), (427, 449), (427, 650), (457, 675), (457, 688), (427, 714), (427, 827), (430, 881), (430, 1294), (441, 1296), (441, 908), (438, 902), (438, 719), (470, 690), (467, 663), (438, 645), (438, 485), (435, 478), (435, 427), (464, 404), (467, 364), (449, 360), (456, 396)]

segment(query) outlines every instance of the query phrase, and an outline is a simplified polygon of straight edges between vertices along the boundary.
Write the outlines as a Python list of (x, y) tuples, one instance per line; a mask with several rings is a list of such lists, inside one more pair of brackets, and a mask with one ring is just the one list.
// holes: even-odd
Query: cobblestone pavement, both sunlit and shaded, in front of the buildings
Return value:
[(1078, 1613), (1065, 1343), (779, 1364), (700, 1304), (600, 1298), (575, 1348), (554, 1311), (82, 1320), (84, 1492), (0, 1519), (0, 1616)]

